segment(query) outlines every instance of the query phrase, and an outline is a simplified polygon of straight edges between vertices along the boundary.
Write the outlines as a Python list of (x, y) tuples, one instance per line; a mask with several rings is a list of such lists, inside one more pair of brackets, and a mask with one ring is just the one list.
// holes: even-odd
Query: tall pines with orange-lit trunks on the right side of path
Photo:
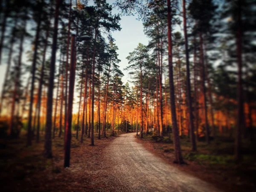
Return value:
[(140, 92), (141, 137), (171, 131), (183, 163), (179, 137), (190, 137), (196, 151), (198, 140), (229, 135), (240, 161), (242, 141), (253, 141), (256, 125), (255, 2), (118, 0), (116, 6), (136, 12), (150, 38), (127, 57)]

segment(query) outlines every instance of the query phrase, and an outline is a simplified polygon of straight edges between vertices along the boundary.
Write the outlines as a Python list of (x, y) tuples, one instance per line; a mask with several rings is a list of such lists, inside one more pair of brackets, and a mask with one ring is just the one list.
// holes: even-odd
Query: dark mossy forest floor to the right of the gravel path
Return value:
[[(234, 141), (229, 137), (219, 137), (214, 143), (197, 143), (197, 151), (191, 151), (189, 138), (180, 139), (181, 150), (186, 164), (177, 165), (174, 162), (174, 146), (168, 143), (168, 137), (157, 141), (152, 135), (136, 136), (137, 142), (165, 160), (180, 171), (194, 175), (204, 181), (214, 184), (226, 192), (256, 191), (256, 150), (252, 143), (243, 143), (243, 161), (239, 164), (233, 160)], [(255, 144), (255, 143), (254, 143)], [(253, 147), (254, 146), (254, 147)]]

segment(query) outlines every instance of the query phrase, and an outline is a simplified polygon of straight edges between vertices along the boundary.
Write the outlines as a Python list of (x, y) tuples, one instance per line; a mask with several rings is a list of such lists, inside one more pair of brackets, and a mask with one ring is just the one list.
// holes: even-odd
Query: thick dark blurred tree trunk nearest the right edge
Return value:
[(235, 159), (241, 161), (241, 130), (244, 127), (244, 103), (242, 87), (242, 21), (241, 21), (241, 0), (238, 1), (237, 12), (237, 32), (236, 32), (236, 54), (238, 63), (238, 117), (235, 142)]

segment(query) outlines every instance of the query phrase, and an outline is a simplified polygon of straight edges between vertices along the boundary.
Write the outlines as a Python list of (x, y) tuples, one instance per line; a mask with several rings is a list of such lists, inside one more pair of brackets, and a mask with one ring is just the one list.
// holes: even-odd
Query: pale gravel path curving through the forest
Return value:
[(111, 192), (221, 192), (156, 157), (134, 136), (122, 134), (105, 148), (105, 160), (111, 165), (106, 184)]

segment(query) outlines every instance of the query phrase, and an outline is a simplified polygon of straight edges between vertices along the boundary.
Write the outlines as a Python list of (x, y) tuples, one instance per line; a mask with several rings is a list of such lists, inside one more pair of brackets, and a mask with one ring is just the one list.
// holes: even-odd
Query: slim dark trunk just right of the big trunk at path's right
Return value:
[(190, 86), (190, 70), (189, 70), (189, 48), (188, 48), (188, 36), (186, 29), (186, 1), (183, 0), (183, 26), (184, 26), (184, 37), (185, 37), (185, 49), (186, 49), (186, 80), (187, 80), (187, 97), (189, 104), (189, 125), (192, 142), (192, 151), (196, 151), (195, 133), (194, 133), (194, 122), (192, 112), (192, 98), (191, 98), (191, 86)]

